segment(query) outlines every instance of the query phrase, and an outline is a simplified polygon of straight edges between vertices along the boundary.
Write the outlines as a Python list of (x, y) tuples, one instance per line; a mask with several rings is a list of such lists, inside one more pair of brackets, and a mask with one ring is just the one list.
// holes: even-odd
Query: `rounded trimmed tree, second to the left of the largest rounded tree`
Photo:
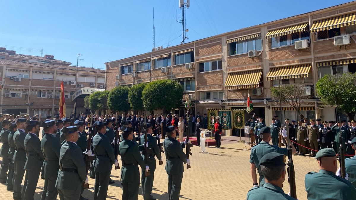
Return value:
[(128, 111), (130, 110), (129, 103), (129, 88), (125, 86), (117, 86), (110, 90), (108, 98), (108, 106), (111, 111)]

